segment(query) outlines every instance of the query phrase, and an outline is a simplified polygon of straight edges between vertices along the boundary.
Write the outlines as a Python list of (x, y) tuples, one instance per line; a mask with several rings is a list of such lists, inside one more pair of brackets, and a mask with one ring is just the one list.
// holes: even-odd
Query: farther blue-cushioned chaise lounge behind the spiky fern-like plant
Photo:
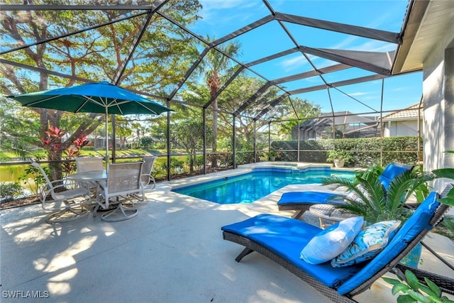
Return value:
[[(390, 163), (384, 168), (379, 180), (384, 188), (387, 189), (394, 177), (407, 170), (412, 170), (413, 167), (414, 166), (412, 165), (397, 162)], [(332, 201), (331, 199), (338, 196), (338, 193), (333, 192), (286, 192), (282, 194), (281, 199), (277, 202), (277, 206), (279, 211), (295, 211), (293, 218), (298, 219), (305, 211), (308, 211), (312, 205), (330, 202), (335, 203), (336, 201)]]

